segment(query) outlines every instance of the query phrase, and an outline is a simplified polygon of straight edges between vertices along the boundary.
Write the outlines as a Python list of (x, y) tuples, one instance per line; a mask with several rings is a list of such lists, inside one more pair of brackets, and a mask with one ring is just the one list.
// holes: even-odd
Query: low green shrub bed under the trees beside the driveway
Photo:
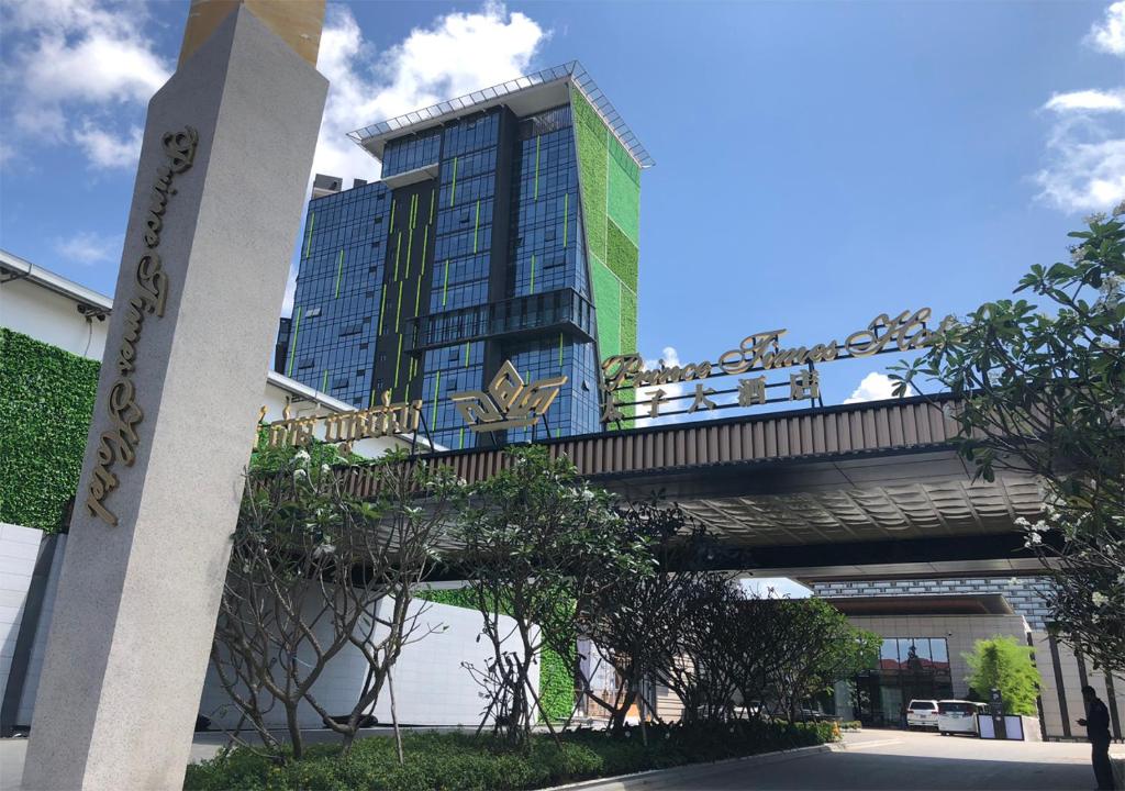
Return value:
[(405, 734), (405, 765), (388, 737), (357, 740), (341, 759), (339, 745), (314, 745), (299, 762), (272, 763), (235, 748), (188, 767), (184, 789), (192, 791), (431, 791), (442, 789), (515, 791), (721, 761), (831, 740), (830, 723), (728, 723), (648, 727), (624, 736), (576, 730), (562, 735), (561, 749), (547, 734), (536, 734), (530, 749), (511, 752), (488, 737), (469, 734)]

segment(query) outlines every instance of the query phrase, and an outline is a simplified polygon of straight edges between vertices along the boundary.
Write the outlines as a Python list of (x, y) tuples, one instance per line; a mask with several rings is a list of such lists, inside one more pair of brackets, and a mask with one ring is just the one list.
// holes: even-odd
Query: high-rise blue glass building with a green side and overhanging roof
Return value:
[(317, 177), (278, 368), (366, 407), (421, 399), (432, 439), (477, 443), (449, 399), (505, 360), (567, 384), (508, 441), (600, 429), (598, 360), (637, 349), (640, 171), (652, 164), (577, 63), (352, 133), (381, 180)]

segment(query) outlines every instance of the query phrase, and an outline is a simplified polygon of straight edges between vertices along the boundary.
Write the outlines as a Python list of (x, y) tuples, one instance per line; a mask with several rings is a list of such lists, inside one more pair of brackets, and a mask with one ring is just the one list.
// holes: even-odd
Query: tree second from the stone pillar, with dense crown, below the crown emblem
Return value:
[(568, 459), (534, 446), (506, 453), (510, 466), (469, 489), (450, 556), (493, 647), (488, 667), (470, 668), (488, 696), (482, 727), (490, 720), (494, 732), (526, 746), (537, 713), (547, 713), (532, 663), (544, 646), (574, 651), (577, 610), (562, 604), (590, 599), (609, 575), (648, 574), (649, 561), (640, 540), (622, 540), (610, 495), (582, 482)]

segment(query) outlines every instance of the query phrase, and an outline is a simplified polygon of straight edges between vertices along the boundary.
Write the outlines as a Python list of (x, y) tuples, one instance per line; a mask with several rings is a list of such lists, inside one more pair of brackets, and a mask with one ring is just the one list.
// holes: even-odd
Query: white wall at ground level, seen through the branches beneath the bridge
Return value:
[[(388, 610), (389, 601), (380, 604)], [(307, 615), (307, 613), (306, 613)], [(484, 669), (492, 656), (490, 644), (482, 638), (480, 613), (465, 608), (433, 604), (415, 600), (411, 615), (417, 615), (417, 631), (440, 630), (413, 642), (403, 650), (393, 671), (395, 701), (398, 721), (408, 725), (476, 726), (479, 723), (485, 702), (479, 696), (479, 687), (461, 663), (470, 663)], [(514, 622), (501, 619), (502, 633), (507, 633)], [(318, 632), (327, 635), (328, 626), (322, 621)], [(505, 645), (518, 650), (518, 638)], [(312, 662), (308, 653), (299, 656), (299, 662)], [(532, 683), (539, 686), (539, 666), (532, 666)], [(331, 714), (345, 714), (359, 696), (367, 676), (367, 662), (359, 649), (348, 646), (333, 657), (323, 675), (313, 686), (313, 694)], [(214, 667), (208, 667), (204, 693), (199, 703), (200, 713), (210, 717), (215, 727), (233, 727), (238, 721), (238, 711), (230, 704)], [(372, 712), (380, 723), (390, 722), (390, 694), (384, 687)], [(268, 714), (271, 727), (285, 727), (285, 712), (280, 707)], [(305, 728), (322, 728), (320, 714), (305, 702), (298, 708), (298, 721)]]

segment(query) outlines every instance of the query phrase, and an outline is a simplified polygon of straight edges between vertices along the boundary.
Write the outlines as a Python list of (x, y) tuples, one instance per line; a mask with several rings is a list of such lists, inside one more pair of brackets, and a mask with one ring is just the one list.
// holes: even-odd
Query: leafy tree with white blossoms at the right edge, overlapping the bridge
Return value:
[(1032, 473), (1044, 518), (1017, 520), (1053, 579), (1052, 629), (1106, 669), (1125, 669), (1125, 204), (1071, 233), (1069, 263), (1035, 264), (1016, 289), (947, 323), (930, 351), (893, 367), (901, 395), (929, 377), (960, 399), (957, 449), (993, 479)]

